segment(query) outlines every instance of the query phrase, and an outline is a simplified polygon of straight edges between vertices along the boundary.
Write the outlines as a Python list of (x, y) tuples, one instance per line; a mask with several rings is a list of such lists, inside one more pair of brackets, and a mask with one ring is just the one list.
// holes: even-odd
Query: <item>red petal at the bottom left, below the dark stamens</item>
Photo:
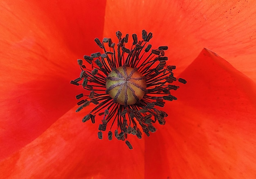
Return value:
[[(144, 178), (144, 140), (97, 137), (97, 126), (81, 119), (90, 108), (67, 112), (36, 140), (0, 163), (3, 178)], [(99, 116), (98, 116), (99, 117)], [(98, 120), (99, 122), (99, 120)]]

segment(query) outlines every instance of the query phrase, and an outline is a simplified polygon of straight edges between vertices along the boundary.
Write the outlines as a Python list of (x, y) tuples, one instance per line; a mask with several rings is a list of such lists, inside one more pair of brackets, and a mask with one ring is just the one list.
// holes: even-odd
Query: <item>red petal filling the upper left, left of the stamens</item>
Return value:
[(80, 73), (76, 58), (98, 49), (93, 38), (103, 29), (100, 2), (0, 2), (0, 159), (76, 103), (81, 91), (70, 80)]

